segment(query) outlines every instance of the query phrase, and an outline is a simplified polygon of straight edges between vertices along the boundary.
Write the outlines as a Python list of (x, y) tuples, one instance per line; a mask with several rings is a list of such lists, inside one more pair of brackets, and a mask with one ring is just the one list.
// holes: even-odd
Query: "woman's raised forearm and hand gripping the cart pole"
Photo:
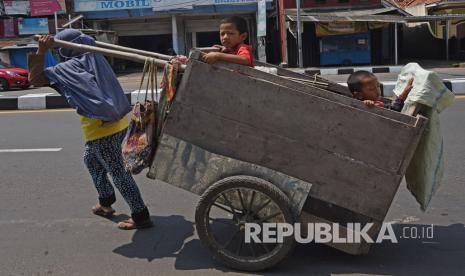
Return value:
[(51, 38), (42, 36), (39, 39), (39, 49), (27, 57), (29, 66), (29, 81), (35, 87), (48, 86), (50, 81), (44, 73), (44, 61), (47, 49), (51, 46)]

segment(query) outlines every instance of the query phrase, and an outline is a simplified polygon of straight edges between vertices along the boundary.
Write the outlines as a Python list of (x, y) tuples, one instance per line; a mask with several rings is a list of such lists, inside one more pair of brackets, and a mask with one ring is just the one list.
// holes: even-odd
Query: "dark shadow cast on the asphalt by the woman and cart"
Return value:
[[(138, 230), (132, 242), (114, 253), (148, 261), (175, 258), (181, 271), (214, 269), (231, 271), (215, 261), (194, 236), (194, 224), (182, 216), (152, 217), (155, 227)], [(321, 244), (297, 245), (284, 262), (256, 275), (464, 275), (465, 227), (463, 224), (434, 226), (433, 238), (401, 238), (405, 227), (424, 229), (429, 225), (396, 224), (398, 243), (374, 244), (368, 255), (352, 256)]]

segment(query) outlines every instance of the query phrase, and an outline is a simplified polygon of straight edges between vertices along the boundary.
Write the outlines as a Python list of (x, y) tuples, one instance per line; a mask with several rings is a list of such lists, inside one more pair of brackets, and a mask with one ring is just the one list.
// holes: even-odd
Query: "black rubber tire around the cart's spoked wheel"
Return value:
[(215, 182), (201, 196), (197, 208), (195, 210), (195, 223), (197, 234), (201, 242), (206, 246), (212, 255), (220, 260), (226, 266), (244, 271), (260, 271), (273, 267), (283, 261), (292, 251), (295, 245), (294, 236), (286, 237), (283, 241), (281, 250), (264, 260), (238, 260), (225, 254), (223, 250), (219, 250), (216, 243), (208, 238), (207, 226), (208, 207), (211, 201), (216, 199), (216, 196), (225, 190), (232, 188), (249, 188), (259, 191), (271, 198), (281, 209), (287, 223), (294, 224), (295, 218), (291, 212), (291, 202), (289, 198), (275, 185), (261, 178), (251, 176), (232, 176)]

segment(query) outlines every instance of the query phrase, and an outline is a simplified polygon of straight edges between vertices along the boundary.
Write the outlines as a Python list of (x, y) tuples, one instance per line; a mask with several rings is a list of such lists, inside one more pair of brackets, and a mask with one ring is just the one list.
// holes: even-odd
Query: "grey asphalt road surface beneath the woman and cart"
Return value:
[[(465, 270), (465, 99), (442, 114), (446, 174), (427, 212), (401, 185), (387, 221), (434, 224), (434, 239), (400, 239), (350, 256), (322, 245), (298, 246), (263, 275), (463, 275)], [(2, 153), (5, 149), (62, 148)], [(0, 112), (0, 275), (217, 275), (194, 231), (198, 197), (136, 177), (156, 227), (120, 231), (128, 208), (118, 197), (114, 221), (90, 208), (96, 192), (82, 162), (77, 116), (70, 110)], [(367, 195), (369, 196), (369, 195)]]

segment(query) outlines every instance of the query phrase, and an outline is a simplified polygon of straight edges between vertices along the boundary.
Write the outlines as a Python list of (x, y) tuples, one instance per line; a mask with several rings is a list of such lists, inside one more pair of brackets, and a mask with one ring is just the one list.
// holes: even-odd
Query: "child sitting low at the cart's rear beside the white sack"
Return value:
[(381, 98), (381, 89), (378, 78), (368, 71), (352, 73), (347, 80), (347, 85), (354, 98), (363, 101), (368, 107), (383, 107), (395, 111), (402, 111), (404, 101), (412, 90), (413, 78), (409, 80), (402, 94), (395, 100)]

